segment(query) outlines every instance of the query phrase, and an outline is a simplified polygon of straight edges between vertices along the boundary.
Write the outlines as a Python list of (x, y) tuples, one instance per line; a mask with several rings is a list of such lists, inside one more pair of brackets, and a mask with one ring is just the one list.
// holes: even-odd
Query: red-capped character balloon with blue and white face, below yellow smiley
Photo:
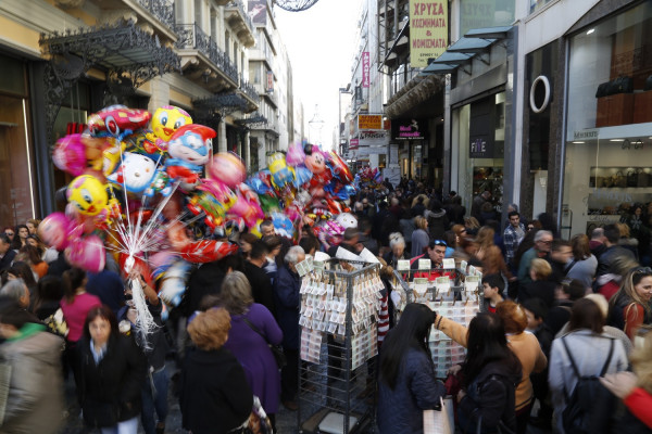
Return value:
[[(203, 125), (186, 125), (177, 129), (167, 145), (170, 157), (165, 170), (172, 179), (196, 187), (202, 166), (209, 162), (215, 130)], [(190, 188), (191, 190), (192, 188)]]

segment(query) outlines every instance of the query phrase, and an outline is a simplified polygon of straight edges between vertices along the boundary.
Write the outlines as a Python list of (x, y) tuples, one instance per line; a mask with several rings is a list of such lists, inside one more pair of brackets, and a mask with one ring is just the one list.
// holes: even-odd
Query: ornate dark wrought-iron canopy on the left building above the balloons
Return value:
[[(39, 44), (50, 58), (46, 65), (46, 127), (52, 139), (54, 120), (73, 85), (91, 67), (108, 74), (109, 92), (140, 87), (153, 77), (180, 71), (180, 60), (172, 49), (161, 47), (133, 21), (80, 28), (64, 34), (41, 34)], [(113, 82), (112, 82), (113, 81)], [(117, 86), (117, 88), (115, 87)]]

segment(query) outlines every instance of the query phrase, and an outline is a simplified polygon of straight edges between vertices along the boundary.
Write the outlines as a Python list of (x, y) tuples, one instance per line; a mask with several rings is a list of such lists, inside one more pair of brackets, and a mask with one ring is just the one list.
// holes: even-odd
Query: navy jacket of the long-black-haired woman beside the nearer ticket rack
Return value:
[(435, 366), (421, 349), (410, 348), (399, 368), (396, 388), (378, 382), (378, 427), (380, 434), (423, 433), (423, 411), (439, 406), (446, 395)]

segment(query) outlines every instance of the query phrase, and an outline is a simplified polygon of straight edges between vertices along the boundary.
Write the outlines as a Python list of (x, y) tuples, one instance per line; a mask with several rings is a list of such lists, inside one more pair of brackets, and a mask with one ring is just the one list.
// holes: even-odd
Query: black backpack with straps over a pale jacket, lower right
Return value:
[(565, 337), (562, 344), (566, 348), (570, 366), (577, 378), (573, 393), (566, 396), (566, 408), (562, 412), (562, 423), (566, 434), (600, 434), (611, 432), (611, 418), (616, 405), (615, 396), (600, 384), (599, 378), (604, 376), (614, 353), (614, 340), (610, 340), (609, 355), (599, 375), (580, 375), (577, 363), (570, 354)]

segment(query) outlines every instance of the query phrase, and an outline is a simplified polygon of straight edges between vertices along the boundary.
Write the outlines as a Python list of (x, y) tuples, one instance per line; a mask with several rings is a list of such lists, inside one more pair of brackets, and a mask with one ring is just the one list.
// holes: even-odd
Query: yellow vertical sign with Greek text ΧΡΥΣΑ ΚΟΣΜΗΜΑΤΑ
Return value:
[(448, 0), (410, 0), (410, 65), (428, 66), (448, 47)]

